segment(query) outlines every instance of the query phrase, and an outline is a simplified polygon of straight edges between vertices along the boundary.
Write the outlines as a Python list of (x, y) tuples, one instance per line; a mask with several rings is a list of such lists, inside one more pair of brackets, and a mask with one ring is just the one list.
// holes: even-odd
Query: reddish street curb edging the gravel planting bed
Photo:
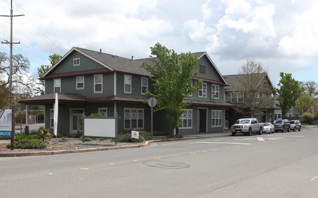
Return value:
[(38, 156), (38, 155), (53, 155), (53, 154), (71, 154), (71, 153), (84, 153), (92, 151), (108, 151), (117, 149), (130, 149), (147, 146), (149, 143), (161, 142), (161, 140), (150, 140), (144, 144), (127, 145), (127, 146), (114, 146), (114, 147), (101, 147), (91, 149), (77, 149), (77, 150), (62, 150), (62, 151), (44, 151), (44, 152), (28, 152), (28, 153), (0, 153), (0, 157), (21, 157), (21, 156)]

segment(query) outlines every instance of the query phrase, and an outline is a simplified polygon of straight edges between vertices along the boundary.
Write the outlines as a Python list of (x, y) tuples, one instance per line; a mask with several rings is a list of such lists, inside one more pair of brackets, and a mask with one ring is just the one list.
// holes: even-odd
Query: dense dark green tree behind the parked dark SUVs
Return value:
[(303, 89), (300, 87), (300, 83), (292, 78), (292, 74), (280, 72), (280, 81), (277, 84), (278, 88), (275, 88), (278, 95), (278, 106), (282, 109), (282, 117), (296, 105), (296, 100), (299, 98)]

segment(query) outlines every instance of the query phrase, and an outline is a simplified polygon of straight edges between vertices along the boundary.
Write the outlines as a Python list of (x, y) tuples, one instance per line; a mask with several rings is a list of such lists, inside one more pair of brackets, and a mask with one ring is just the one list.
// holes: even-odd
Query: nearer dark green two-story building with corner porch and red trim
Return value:
[[(227, 128), (225, 102), (227, 82), (206, 52), (195, 53), (200, 61), (193, 81), (202, 79), (200, 90), (185, 98), (192, 105), (182, 114), (181, 134), (220, 132)], [(144, 101), (146, 89), (153, 91), (151, 76), (140, 65), (148, 59), (134, 60), (102, 51), (73, 47), (40, 79), (45, 80), (45, 93), (21, 100), (28, 105), (45, 105), (45, 128), (53, 129), (55, 93), (58, 93), (58, 133), (82, 131), (85, 115), (99, 113), (118, 120), (118, 132), (124, 129), (151, 130), (151, 109)], [(171, 131), (166, 112), (154, 113), (154, 130)], [(107, 127), (107, 126), (106, 126)]]

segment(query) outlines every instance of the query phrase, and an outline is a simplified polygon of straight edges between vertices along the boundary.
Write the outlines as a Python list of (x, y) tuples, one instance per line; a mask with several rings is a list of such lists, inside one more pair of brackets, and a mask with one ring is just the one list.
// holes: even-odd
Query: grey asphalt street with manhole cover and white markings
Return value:
[(316, 198), (318, 130), (0, 158), (1, 197)]

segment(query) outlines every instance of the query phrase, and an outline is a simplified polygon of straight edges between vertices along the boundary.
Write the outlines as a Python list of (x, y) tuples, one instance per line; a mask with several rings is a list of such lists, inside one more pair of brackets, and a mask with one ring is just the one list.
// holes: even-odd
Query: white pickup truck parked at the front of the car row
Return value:
[(236, 133), (244, 133), (244, 135), (251, 135), (253, 132), (262, 134), (264, 125), (258, 123), (256, 118), (238, 119), (234, 125), (231, 126), (231, 132), (234, 136)]

